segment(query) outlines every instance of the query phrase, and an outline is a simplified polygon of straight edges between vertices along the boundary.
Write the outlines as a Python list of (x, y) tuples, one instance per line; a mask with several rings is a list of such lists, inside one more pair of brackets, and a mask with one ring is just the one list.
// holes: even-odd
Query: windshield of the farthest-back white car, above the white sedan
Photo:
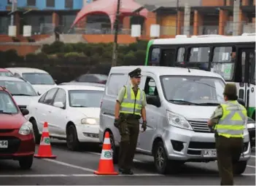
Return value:
[(22, 76), (31, 84), (55, 84), (52, 76), (48, 73), (23, 73)]

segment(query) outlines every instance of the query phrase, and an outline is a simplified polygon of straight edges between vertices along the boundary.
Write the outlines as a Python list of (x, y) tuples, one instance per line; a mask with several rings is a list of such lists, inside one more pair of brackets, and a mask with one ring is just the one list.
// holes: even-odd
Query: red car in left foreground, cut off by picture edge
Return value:
[(36, 146), (26, 115), (28, 110), (20, 110), (11, 94), (0, 86), (0, 159), (17, 160), (21, 169), (31, 168)]

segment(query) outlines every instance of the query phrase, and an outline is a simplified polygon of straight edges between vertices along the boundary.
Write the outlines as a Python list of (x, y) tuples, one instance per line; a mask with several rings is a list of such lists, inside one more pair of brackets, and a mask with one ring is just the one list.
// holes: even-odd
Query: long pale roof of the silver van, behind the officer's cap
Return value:
[(179, 67), (162, 67), (162, 66), (118, 66), (112, 67), (110, 73), (121, 73), (121, 70), (125, 70), (128, 73), (136, 68), (141, 68), (141, 73), (148, 72), (154, 73), (156, 76), (206, 76), (222, 78), (217, 73), (212, 73), (206, 70), (197, 70), (193, 68), (179, 68)]

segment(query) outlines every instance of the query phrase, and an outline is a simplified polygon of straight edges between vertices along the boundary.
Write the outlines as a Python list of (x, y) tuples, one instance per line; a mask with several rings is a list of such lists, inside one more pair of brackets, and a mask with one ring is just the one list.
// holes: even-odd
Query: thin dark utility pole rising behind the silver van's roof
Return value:
[(114, 44), (113, 44), (113, 53), (112, 53), (112, 67), (117, 65), (117, 36), (119, 29), (119, 16), (120, 15), (120, 0), (117, 0), (117, 14), (115, 16), (115, 25), (114, 25)]

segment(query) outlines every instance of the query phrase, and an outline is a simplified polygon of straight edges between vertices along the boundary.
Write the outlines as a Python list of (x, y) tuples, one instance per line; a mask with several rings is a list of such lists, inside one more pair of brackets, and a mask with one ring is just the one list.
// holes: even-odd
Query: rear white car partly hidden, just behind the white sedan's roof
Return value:
[(29, 81), (38, 94), (43, 94), (47, 90), (57, 86), (53, 77), (44, 70), (37, 68), (6, 68), (14, 76), (21, 77)]

